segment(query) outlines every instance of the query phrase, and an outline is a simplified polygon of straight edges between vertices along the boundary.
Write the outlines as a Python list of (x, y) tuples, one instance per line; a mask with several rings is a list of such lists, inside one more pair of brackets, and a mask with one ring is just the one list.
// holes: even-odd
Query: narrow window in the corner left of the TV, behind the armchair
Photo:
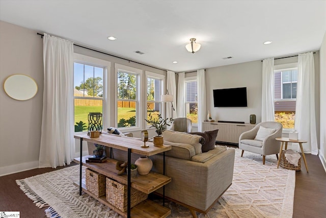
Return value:
[(197, 106), (197, 80), (185, 81), (185, 114), (192, 120), (193, 124), (198, 124)]

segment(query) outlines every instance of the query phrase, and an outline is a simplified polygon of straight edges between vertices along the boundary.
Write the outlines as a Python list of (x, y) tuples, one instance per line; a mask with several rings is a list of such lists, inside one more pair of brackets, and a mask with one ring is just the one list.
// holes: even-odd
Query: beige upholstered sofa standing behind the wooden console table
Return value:
[[(202, 153), (202, 136), (174, 131), (165, 131), (163, 136), (164, 143), (172, 146), (172, 150), (166, 152), (166, 175), (172, 181), (165, 186), (165, 196), (189, 208), (194, 217), (197, 217), (195, 211), (206, 213), (232, 183), (234, 149), (216, 146)], [(93, 148), (90, 143), (89, 151)], [(108, 156), (110, 149), (106, 149), (105, 153)], [(127, 155), (113, 149), (113, 158), (125, 161)], [(132, 162), (138, 158), (136, 154), (131, 156)], [(153, 161), (152, 171), (162, 173), (163, 155), (150, 158)], [(158, 193), (162, 193), (162, 188)]]

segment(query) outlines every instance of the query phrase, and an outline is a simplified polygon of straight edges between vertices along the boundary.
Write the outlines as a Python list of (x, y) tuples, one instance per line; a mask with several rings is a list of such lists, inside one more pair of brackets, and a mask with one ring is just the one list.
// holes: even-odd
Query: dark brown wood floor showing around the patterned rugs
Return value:
[[(295, 174), (294, 218), (326, 217), (326, 173), (318, 156), (306, 154), (309, 173), (302, 160)], [(73, 163), (72, 165), (74, 165)], [(61, 169), (63, 167), (57, 167)], [(20, 211), (20, 217), (46, 217), (46, 208), (37, 208), (16, 184), (17, 179), (47, 173), (56, 169), (39, 168), (0, 177), (0, 211)]]

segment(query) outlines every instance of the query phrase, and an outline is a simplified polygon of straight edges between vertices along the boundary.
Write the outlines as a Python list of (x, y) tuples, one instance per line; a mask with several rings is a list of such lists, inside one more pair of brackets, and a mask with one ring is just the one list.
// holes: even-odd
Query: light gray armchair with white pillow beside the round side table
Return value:
[[(256, 135), (260, 126), (268, 129), (275, 129), (275, 131), (263, 138), (260, 138), (260, 140), (256, 140)], [(282, 130), (283, 127), (280, 123), (263, 122), (257, 124), (252, 130), (242, 133), (239, 137), (239, 149), (242, 150), (241, 157), (244, 151), (249, 151), (262, 155), (263, 164), (265, 164), (266, 155), (276, 154), (277, 159), (279, 159), (278, 153), (280, 152), (281, 142), (275, 140), (275, 138), (282, 137)]]

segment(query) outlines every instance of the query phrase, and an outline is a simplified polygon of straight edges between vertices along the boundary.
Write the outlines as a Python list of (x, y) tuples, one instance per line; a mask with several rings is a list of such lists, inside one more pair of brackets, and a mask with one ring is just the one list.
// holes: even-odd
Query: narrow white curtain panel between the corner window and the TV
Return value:
[(198, 131), (202, 132), (202, 126), (206, 116), (206, 85), (204, 69), (197, 70), (197, 94)]

